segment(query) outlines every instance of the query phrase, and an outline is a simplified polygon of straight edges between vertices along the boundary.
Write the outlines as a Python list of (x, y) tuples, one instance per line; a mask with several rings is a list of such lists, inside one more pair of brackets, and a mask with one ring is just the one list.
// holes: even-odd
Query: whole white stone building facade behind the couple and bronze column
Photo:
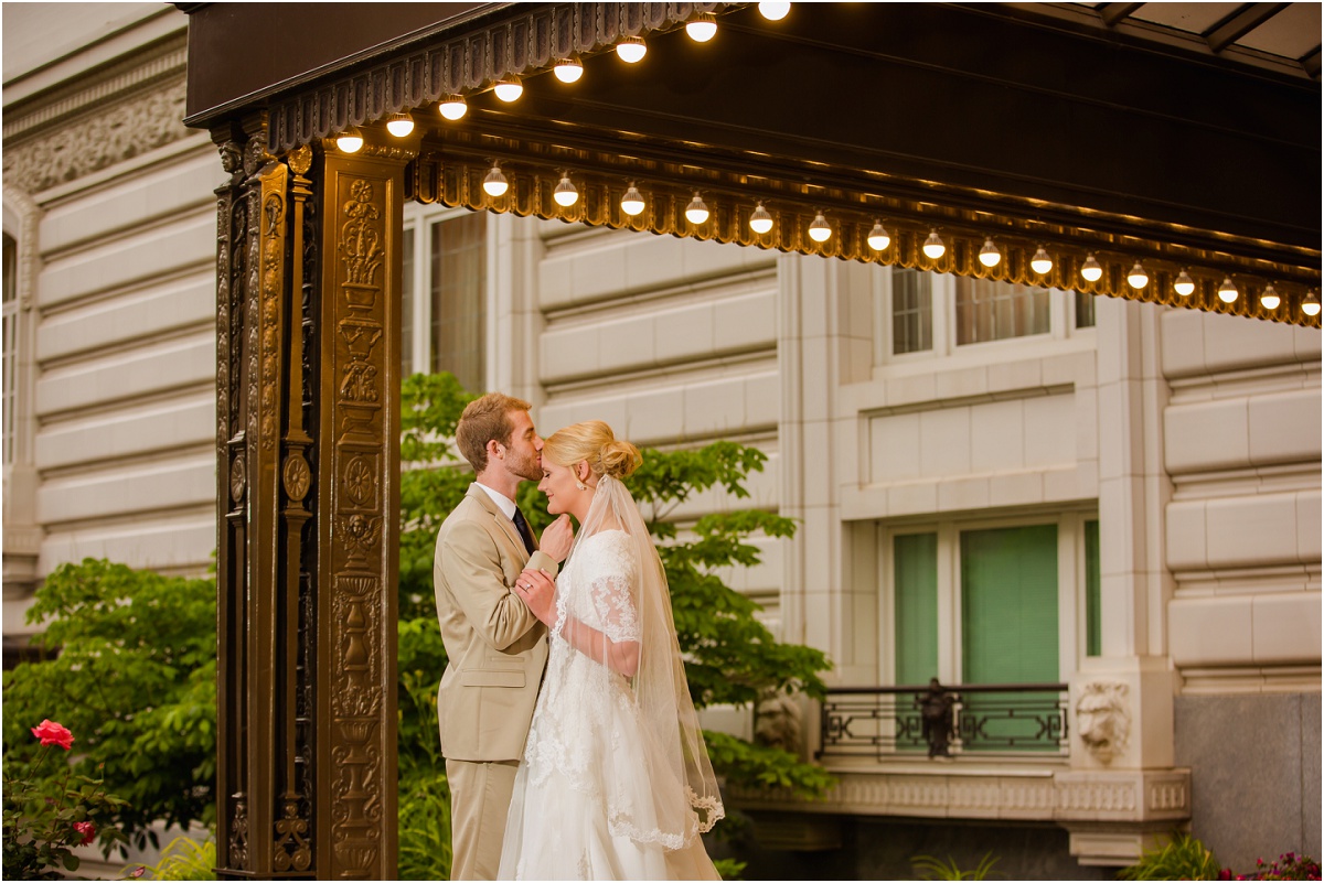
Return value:
[[(4, 15), (9, 657), (62, 562), (208, 567), (224, 173), (180, 123), (181, 13)], [(1319, 330), (441, 206), (405, 229), (406, 369), (544, 434), (768, 452), (752, 502), (800, 529), (732, 578), (833, 685), (1066, 685), (1046, 753), (850, 756), (801, 709), (839, 784), (740, 796), (765, 855), (874, 876), (1023, 842), (1092, 874), (1188, 821), (1238, 868), (1319, 854)]]

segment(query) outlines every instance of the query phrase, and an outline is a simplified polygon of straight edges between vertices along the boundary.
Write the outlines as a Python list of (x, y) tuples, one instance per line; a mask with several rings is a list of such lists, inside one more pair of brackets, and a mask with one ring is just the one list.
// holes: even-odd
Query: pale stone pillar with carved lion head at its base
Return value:
[(1129, 864), (1190, 818), (1190, 771), (1173, 767), (1165, 641), (1169, 391), (1158, 308), (1100, 299), (1096, 309), (1103, 654), (1070, 678), (1071, 769), (1055, 776), (1057, 818), (1082, 864)]

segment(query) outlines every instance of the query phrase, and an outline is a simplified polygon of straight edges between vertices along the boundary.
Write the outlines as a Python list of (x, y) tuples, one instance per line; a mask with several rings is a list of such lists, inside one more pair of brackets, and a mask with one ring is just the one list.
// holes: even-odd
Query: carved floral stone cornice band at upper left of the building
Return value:
[[(38, 193), (139, 153), (188, 137), (183, 73), (109, 107), (87, 108), (68, 124), (5, 144), (7, 184)], [(8, 136), (7, 136), (8, 141)]]

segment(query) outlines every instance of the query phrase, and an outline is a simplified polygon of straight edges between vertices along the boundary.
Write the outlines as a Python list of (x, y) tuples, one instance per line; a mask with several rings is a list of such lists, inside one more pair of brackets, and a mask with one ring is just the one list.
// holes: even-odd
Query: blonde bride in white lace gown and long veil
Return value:
[[(699, 834), (724, 814), (677, 644), (662, 562), (621, 479), (641, 463), (601, 420), (545, 440), (548, 512), (579, 535), (534, 613), (547, 673), (500, 879), (719, 879)], [(524, 571), (516, 591), (548, 579)]]

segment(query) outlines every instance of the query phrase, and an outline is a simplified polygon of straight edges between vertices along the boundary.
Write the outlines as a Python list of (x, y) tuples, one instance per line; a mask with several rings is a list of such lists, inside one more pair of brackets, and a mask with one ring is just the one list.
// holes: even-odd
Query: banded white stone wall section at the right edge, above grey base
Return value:
[(1319, 690), (1320, 333), (1169, 312), (1162, 342), (1185, 691)]

